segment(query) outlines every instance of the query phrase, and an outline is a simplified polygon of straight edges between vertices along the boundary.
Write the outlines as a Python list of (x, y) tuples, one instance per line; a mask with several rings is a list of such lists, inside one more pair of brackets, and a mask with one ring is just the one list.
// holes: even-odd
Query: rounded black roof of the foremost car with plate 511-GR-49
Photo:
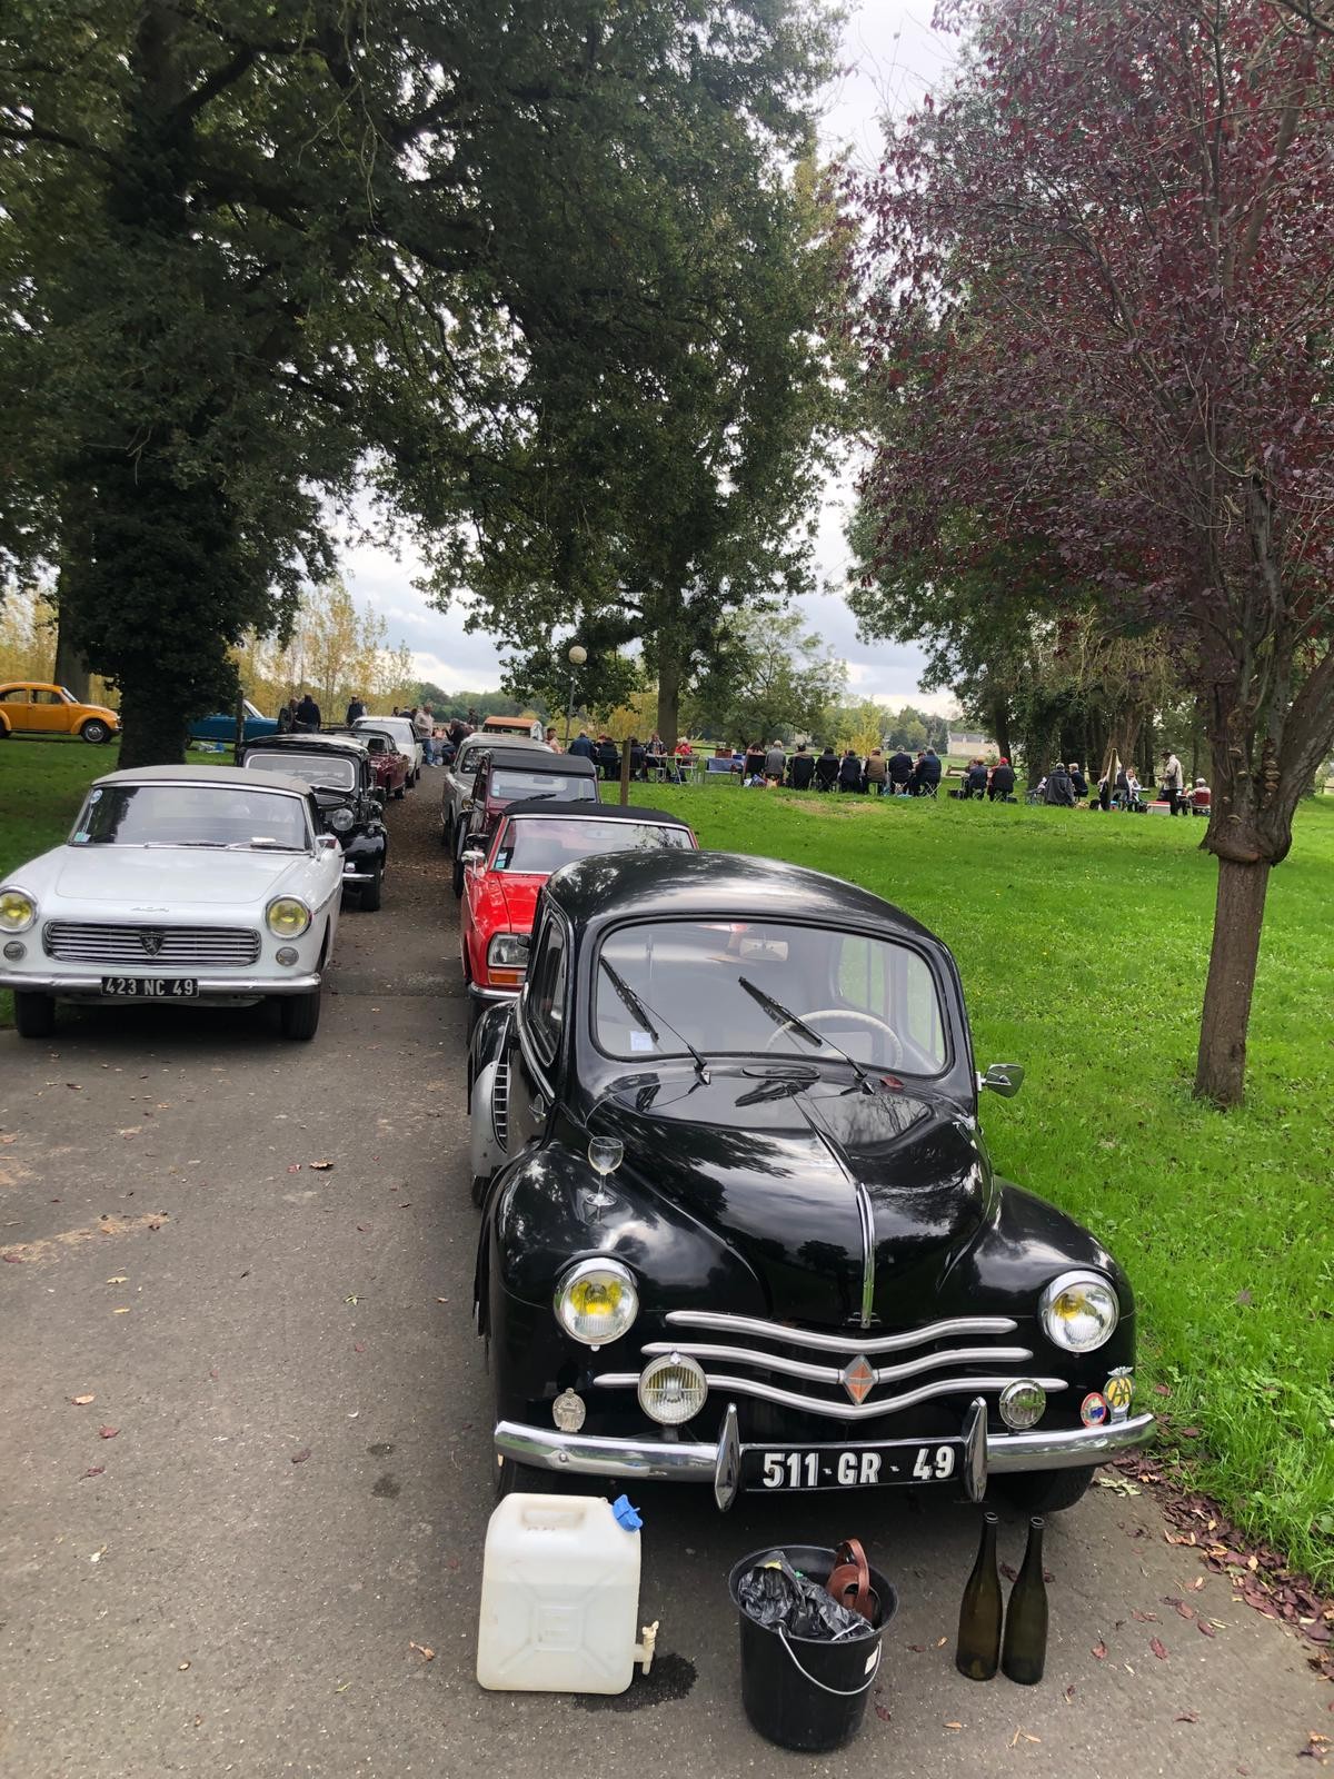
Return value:
[(781, 859), (743, 852), (615, 852), (578, 859), (546, 882), (546, 895), (585, 927), (617, 920), (729, 918), (847, 922), (884, 936), (934, 932), (870, 890)]

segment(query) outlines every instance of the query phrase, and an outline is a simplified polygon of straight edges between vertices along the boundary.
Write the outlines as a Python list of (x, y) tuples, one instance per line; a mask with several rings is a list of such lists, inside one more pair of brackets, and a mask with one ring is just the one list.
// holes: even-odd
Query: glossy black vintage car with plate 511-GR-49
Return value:
[(959, 973), (816, 872), (710, 852), (546, 884), (470, 1051), (502, 1487), (991, 1478), (1071, 1507), (1149, 1437), (1135, 1300), (991, 1167)]

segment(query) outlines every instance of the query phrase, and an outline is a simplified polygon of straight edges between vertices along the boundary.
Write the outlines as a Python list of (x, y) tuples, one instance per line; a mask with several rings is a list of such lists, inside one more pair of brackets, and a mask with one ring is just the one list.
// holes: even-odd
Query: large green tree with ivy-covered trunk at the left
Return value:
[(5, 7), (0, 551), (59, 566), (128, 761), (178, 756), (366, 484), (441, 585), (519, 548), (573, 601), (738, 363), (825, 39), (806, 0)]

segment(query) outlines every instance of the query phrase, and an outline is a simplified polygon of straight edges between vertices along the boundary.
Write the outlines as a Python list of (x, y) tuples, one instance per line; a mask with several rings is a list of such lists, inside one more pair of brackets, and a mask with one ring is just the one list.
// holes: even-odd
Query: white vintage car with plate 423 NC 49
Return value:
[(309, 786), (237, 767), (144, 767), (89, 788), (62, 847), (0, 882), (0, 987), (23, 1037), (57, 1000), (244, 1007), (274, 994), (315, 1037), (343, 856)]

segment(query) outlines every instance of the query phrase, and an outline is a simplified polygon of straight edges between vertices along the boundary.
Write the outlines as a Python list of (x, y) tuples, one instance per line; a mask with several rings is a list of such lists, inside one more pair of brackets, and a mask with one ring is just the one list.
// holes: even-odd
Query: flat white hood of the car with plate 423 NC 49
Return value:
[(142, 913), (254, 904), (277, 891), (306, 854), (213, 852), (212, 847), (68, 847), (53, 890), (68, 902), (107, 902)]

